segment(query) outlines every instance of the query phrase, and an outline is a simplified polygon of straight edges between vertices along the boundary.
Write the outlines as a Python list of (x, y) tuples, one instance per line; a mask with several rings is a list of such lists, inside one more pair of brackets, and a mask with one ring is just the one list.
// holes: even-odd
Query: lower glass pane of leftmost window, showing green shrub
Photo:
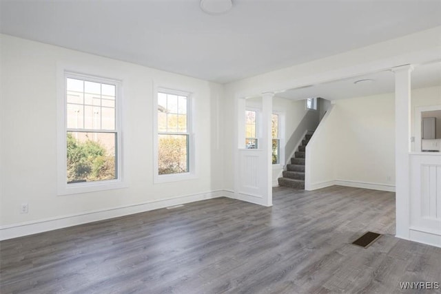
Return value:
[(94, 182), (116, 178), (116, 134), (68, 132), (67, 182)]

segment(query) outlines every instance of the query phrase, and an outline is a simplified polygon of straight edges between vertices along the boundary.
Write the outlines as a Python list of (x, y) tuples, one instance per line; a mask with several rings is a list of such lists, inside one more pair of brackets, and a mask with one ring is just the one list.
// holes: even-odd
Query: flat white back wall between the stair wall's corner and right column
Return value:
[(394, 102), (393, 94), (336, 101), (336, 180), (384, 189), (395, 186)]

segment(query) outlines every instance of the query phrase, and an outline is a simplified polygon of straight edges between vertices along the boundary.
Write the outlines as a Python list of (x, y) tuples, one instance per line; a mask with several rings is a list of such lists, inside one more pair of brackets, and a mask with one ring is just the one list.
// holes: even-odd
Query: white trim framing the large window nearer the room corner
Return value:
[[(158, 174), (158, 92), (167, 94), (174, 94), (178, 96), (187, 96), (187, 133), (189, 135), (189, 171), (179, 174)], [(153, 93), (153, 182), (154, 184), (160, 184), (163, 182), (176, 182), (181, 180), (193, 180), (198, 178), (197, 166), (196, 166), (196, 142), (195, 135), (193, 133), (193, 107), (194, 94), (189, 91), (172, 90), (169, 87), (154, 86)], [(189, 114), (189, 115), (188, 115)]]

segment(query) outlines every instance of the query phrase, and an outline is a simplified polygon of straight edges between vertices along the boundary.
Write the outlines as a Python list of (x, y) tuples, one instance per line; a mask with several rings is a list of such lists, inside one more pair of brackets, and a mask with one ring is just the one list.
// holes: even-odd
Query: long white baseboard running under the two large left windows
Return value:
[(154, 209), (171, 207), (178, 204), (186, 204), (190, 202), (218, 198), (218, 197), (234, 198), (234, 193), (225, 190), (209, 191), (205, 193), (178, 196), (175, 198), (169, 198), (164, 200), (154, 200), (145, 203), (131, 204), (123, 207), (103, 209), (99, 211), (88, 211), (85, 213), (78, 213), (70, 216), (59, 216), (59, 217), (47, 218), (43, 220), (34, 220), (30, 222), (21, 222), (18, 224), (9, 224), (0, 227), (0, 240), (8, 240), (12, 238), (22, 237), (25, 235), (32, 235), (35, 233), (42, 233), (45, 231), (52, 231), (56, 229), (72, 227), (78, 224), (96, 222), (99, 220), (107, 220), (110, 218), (118, 218), (120, 216), (127, 216), (134, 213), (141, 213), (145, 211), (151, 211)]

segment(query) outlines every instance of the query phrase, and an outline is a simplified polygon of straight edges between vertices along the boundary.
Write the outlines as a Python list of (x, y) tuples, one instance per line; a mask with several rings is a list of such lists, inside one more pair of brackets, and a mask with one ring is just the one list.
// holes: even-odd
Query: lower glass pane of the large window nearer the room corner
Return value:
[(188, 136), (158, 135), (158, 174), (188, 171)]

